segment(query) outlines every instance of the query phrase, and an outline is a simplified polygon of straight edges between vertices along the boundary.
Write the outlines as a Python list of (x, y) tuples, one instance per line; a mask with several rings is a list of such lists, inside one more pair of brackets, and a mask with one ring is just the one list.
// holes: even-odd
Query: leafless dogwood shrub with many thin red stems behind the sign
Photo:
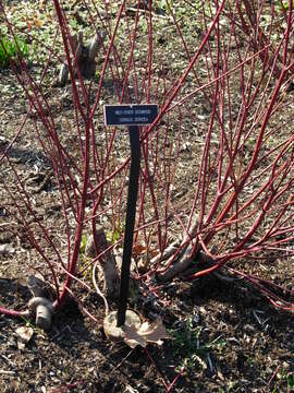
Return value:
[[(83, 1), (89, 28), (74, 36), (65, 5), (56, 0), (56, 34), (42, 43), (41, 71), (21, 56), (10, 61), (26, 107), (1, 147), (1, 193), (14, 231), (34, 250), (27, 271), (54, 287), (54, 309), (73, 283), (90, 288), (83, 273), (127, 230), (127, 135), (106, 129), (102, 118), (102, 105), (114, 103), (160, 106), (155, 122), (140, 130), (134, 257), (144, 266), (135, 276), (196, 279), (225, 266), (275, 306), (293, 309), (293, 293), (286, 289), (286, 301), (270, 286), (275, 269), (287, 284), (294, 254), (293, 4), (261, 3), (185, 2), (199, 21), (198, 31), (189, 31), (169, 2), (164, 10), (151, 1), (132, 9), (105, 2), (101, 10)], [(16, 36), (7, 7), (0, 8), (8, 34)], [(87, 72), (81, 61), (89, 57), (96, 60)], [(23, 158), (25, 168), (13, 159), (22, 141), (34, 151), (30, 160)], [(46, 172), (41, 187), (29, 188), (27, 170)], [(56, 219), (41, 212), (52, 201)], [(108, 228), (108, 249), (95, 242), (98, 225)], [(90, 234), (96, 257), (85, 262), (83, 236)]]

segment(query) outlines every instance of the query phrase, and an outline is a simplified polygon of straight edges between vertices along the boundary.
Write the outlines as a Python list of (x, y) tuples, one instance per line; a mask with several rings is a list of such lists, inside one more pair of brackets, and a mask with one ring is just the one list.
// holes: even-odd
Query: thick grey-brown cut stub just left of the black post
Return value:
[[(102, 226), (97, 227), (96, 245), (99, 254), (109, 248), (109, 242), (107, 241), (105, 229)], [(85, 255), (93, 259), (97, 257), (93, 235), (89, 236), (87, 240)], [(106, 251), (103, 255), (99, 258), (98, 267), (100, 267), (103, 274), (103, 282), (105, 282), (103, 293), (108, 298), (118, 298), (120, 277), (119, 277), (115, 258), (111, 250)]]

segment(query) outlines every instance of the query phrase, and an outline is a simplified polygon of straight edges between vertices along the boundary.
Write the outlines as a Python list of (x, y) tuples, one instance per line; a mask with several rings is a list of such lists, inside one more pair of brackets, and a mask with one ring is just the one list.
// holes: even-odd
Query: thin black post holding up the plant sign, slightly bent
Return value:
[(125, 229), (124, 229), (120, 300), (118, 307), (118, 322), (117, 322), (118, 326), (123, 325), (125, 322), (125, 312), (126, 312), (127, 298), (128, 298), (130, 269), (131, 269), (134, 227), (135, 227), (135, 217), (136, 217), (136, 202), (138, 195), (139, 159), (140, 159), (138, 126), (130, 126), (128, 135), (130, 135), (130, 144), (131, 144), (131, 169), (130, 169), (130, 179), (128, 179), (127, 205), (126, 205), (126, 217), (125, 217)]

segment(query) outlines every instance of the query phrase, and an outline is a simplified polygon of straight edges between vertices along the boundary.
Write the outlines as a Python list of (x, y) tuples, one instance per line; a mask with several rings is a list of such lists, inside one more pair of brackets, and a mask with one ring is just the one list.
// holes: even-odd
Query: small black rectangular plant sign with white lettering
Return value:
[(106, 126), (151, 124), (158, 115), (157, 104), (105, 105)]

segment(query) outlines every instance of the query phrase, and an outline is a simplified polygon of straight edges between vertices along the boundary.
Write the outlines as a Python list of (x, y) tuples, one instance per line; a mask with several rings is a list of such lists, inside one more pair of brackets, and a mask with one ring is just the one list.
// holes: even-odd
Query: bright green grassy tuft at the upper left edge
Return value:
[(28, 57), (28, 45), (24, 40), (0, 38), (0, 67), (7, 68), (10, 60), (16, 61), (20, 56)]

